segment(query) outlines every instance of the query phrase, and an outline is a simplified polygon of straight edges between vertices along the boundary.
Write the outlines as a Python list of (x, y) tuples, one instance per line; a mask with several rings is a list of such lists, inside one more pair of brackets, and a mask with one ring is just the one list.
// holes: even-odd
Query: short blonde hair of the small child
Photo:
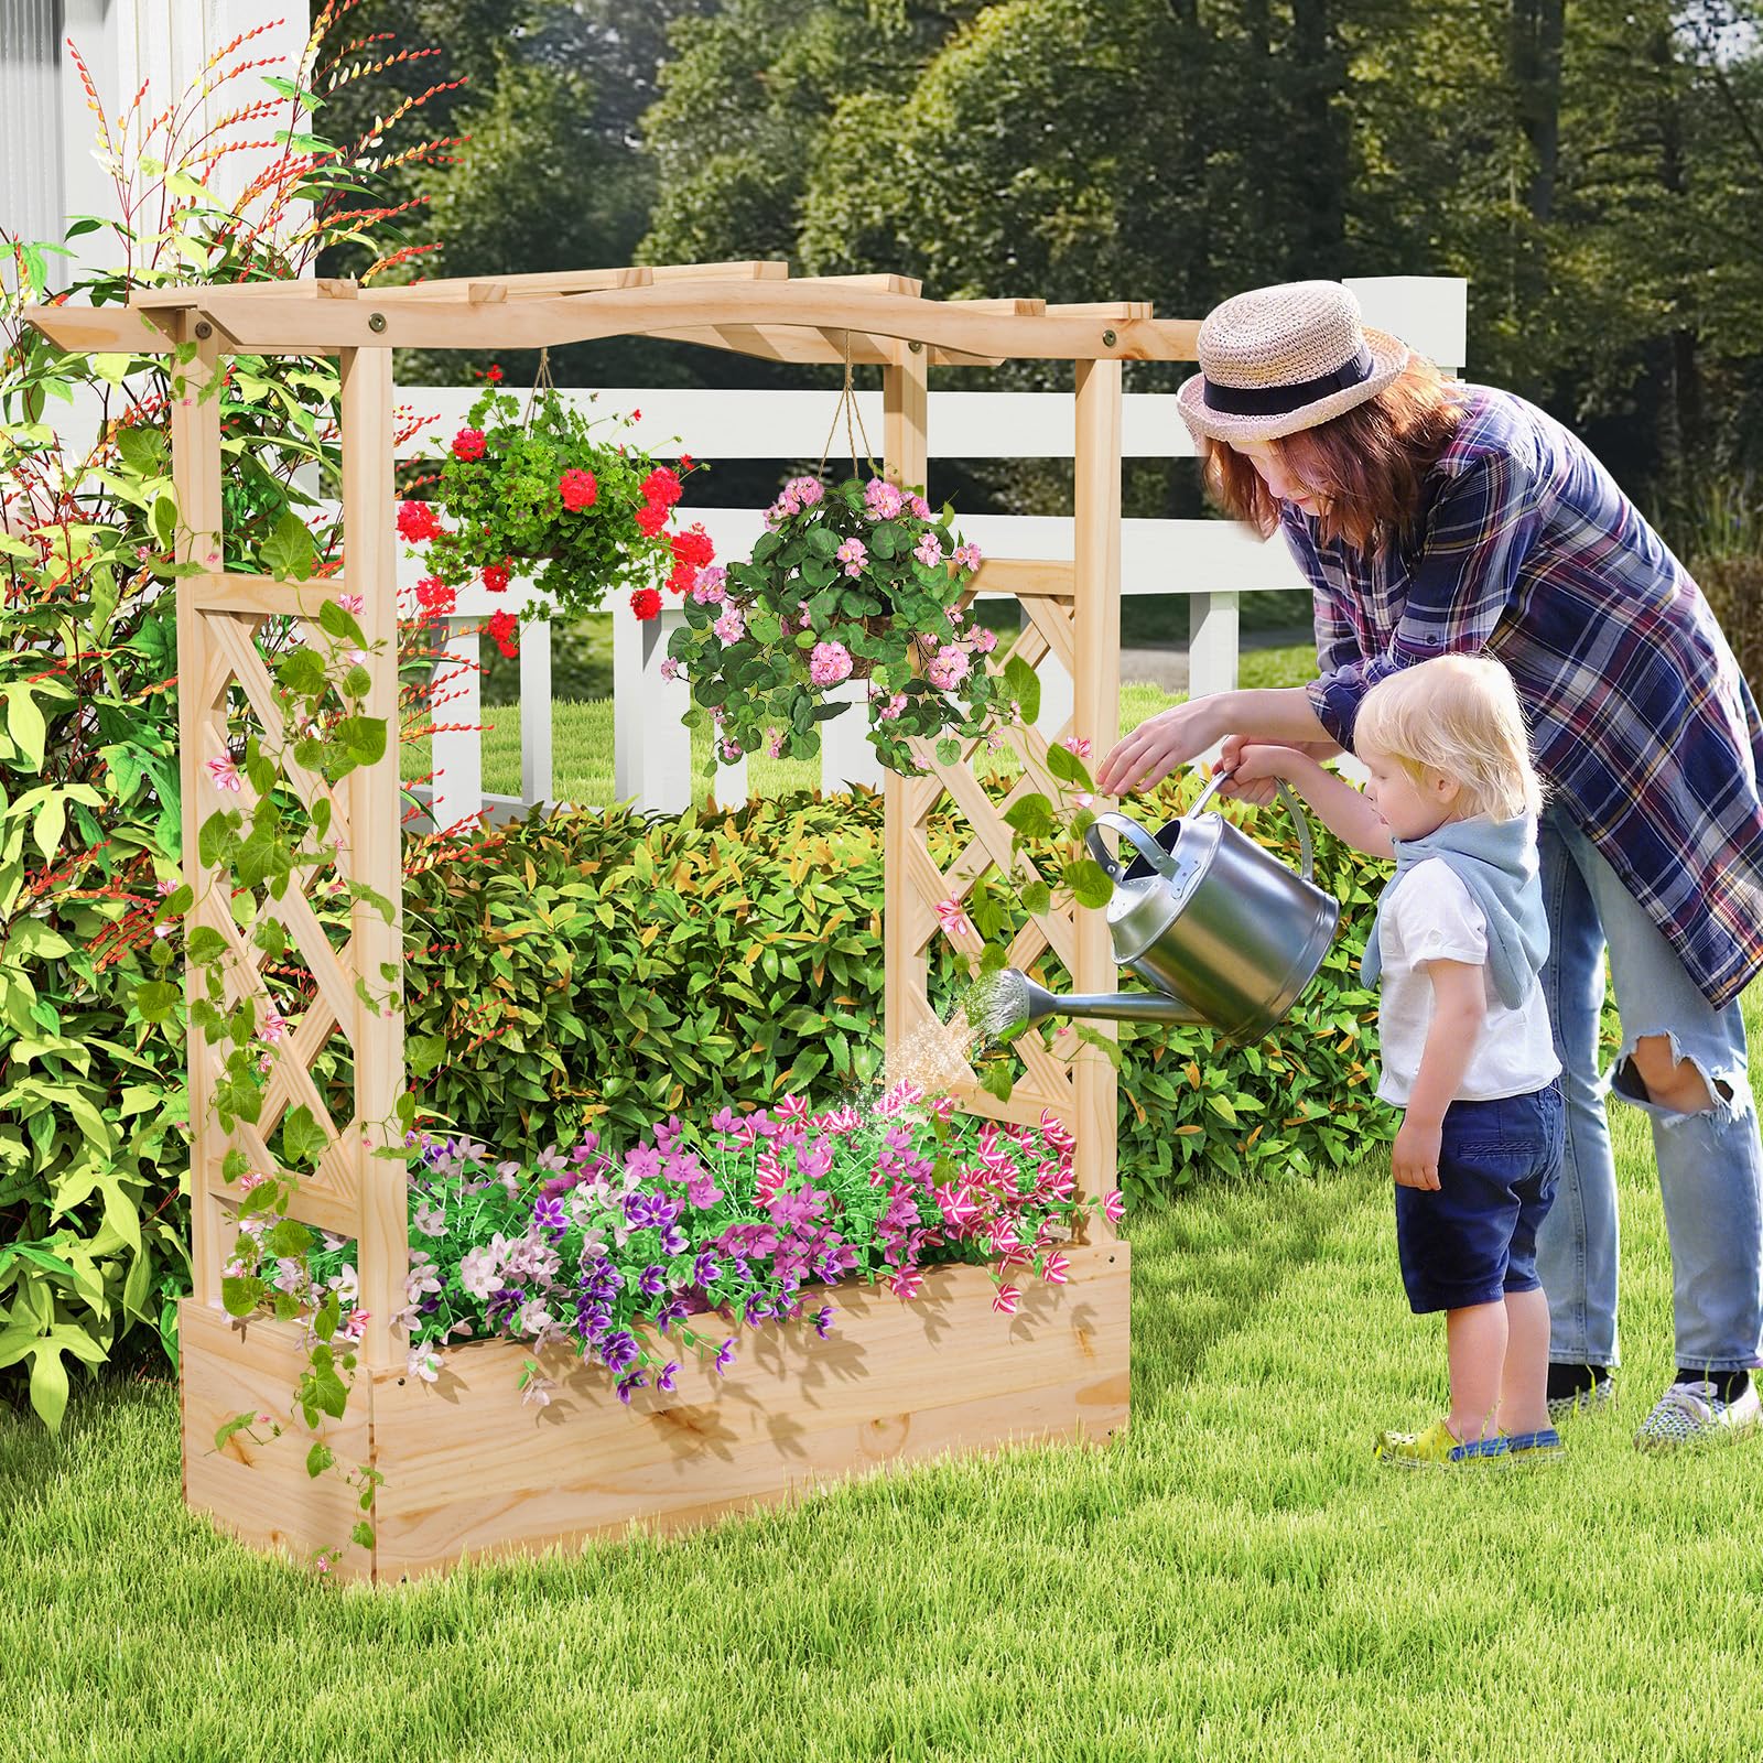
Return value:
[(1352, 744), (1387, 753), (1416, 781), (1423, 767), (1454, 777), (1465, 815), (1543, 811), (1518, 689), (1488, 656), (1437, 656), (1380, 679), (1359, 702)]

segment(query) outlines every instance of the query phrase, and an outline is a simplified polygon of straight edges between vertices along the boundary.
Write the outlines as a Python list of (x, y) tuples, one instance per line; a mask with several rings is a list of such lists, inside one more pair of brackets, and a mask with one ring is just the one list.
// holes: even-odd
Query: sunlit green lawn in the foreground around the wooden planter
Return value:
[(4, 1419), (5, 1754), (1751, 1759), (1763, 1440), (1633, 1449), (1671, 1372), (1670, 1280), (1633, 1111), (1617, 1148), (1622, 1400), (1551, 1469), (1372, 1462), (1379, 1426), (1444, 1398), (1382, 1160), (1130, 1222), (1112, 1447), (670, 1543), (326, 1588), (185, 1513), (171, 1384), (76, 1393), (60, 1442)]

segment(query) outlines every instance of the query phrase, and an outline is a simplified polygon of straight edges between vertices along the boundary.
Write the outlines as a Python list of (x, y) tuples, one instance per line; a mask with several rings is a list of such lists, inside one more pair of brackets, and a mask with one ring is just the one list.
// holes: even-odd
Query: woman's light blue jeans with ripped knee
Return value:
[[(1555, 1208), (1537, 1236), (1550, 1299), (1550, 1359), (1617, 1365), (1617, 1172), (1604, 1095), (1652, 1120), (1671, 1239), (1677, 1363), (1735, 1372), (1763, 1345), (1763, 1149), (1747, 1077), (1738, 1003), (1715, 1010), (1592, 841), (1558, 811), (1539, 827), (1550, 959), (1541, 984), (1567, 1100), (1567, 1149)], [(1597, 1070), (1604, 947), (1622, 1017), (1622, 1045)], [(1670, 1037), (1714, 1105), (1685, 1114), (1647, 1100), (1627, 1056)]]

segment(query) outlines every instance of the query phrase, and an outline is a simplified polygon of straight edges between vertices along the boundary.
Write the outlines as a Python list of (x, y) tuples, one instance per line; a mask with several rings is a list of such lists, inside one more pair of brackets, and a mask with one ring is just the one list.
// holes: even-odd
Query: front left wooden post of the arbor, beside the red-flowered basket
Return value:
[[(376, 1157), (400, 1142), (393, 1109), (404, 1093), (404, 867), (398, 853), (398, 552), (393, 532), (391, 351), (344, 349), (342, 370), (342, 531), (344, 580), (360, 594), (372, 686), (365, 716), (386, 719), (386, 753), (346, 779), (349, 843), (338, 853), (344, 874), (391, 904), (391, 922), (365, 901), (353, 911), (349, 943), (354, 975), (376, 998), (360, 996), (349, 1038), (354, 1044), (354, 1139), (361, 1229), (356, 1239), (361, 1308), (368, 1313), (363, 1359), (368, 1370), (393, 1363), (391, 1319), (404, 1308), (409, 1275), (409, 1201), (398, 1158)], [(393, 970), (386, 978), (384, 968)]]

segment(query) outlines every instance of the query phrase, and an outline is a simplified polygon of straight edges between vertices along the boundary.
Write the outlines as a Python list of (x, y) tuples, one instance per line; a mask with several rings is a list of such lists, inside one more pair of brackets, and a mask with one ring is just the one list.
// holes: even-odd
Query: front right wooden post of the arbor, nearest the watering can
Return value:
[[(1072, 524), (1075, 675), (1072, 726), (1100, 756), (1120, 735), (1120, 361), (1077, 363), (1077, 450)], [(1114, 991), (1114, 947), (1100, 911), (1077, 910), (1072, 986), (1081, 993)], [(1116, 1035), (1112, 1023), (1090, 1024)], [(1079, 1194), (1114, 1188), (1118, 1134), (1114, 1067), (1100, 1049), (1082, 1045), (1072, 1060)], [(1107, 1238), (1112, 1225), (1097, 1218)]]

